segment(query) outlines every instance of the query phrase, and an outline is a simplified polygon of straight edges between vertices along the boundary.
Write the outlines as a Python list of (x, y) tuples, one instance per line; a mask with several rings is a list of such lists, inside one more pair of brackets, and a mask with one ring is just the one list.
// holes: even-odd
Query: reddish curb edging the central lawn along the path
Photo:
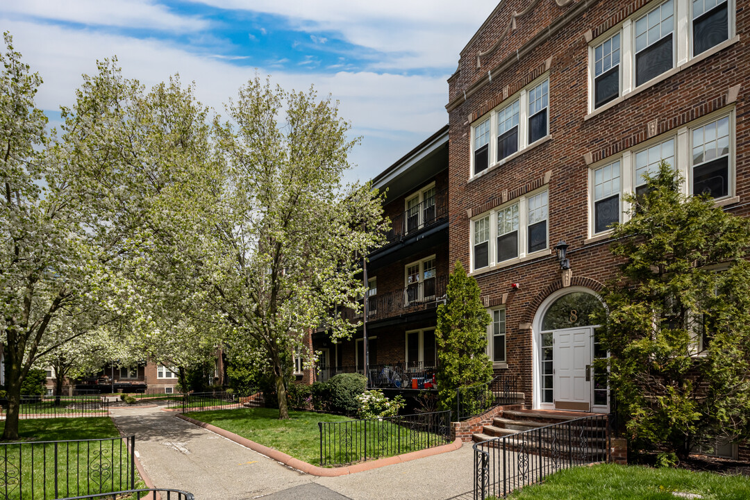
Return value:
[(372, 469), (379, 469), (380, 467), (391, 466), (395, 463), (410, 462), (411, 460), (417, 460), (419, 458), (440, 455), (449, 451), (458, 450), (458, 448), (463, 445), (463, 442), (459, 438), (455, 439), (454, 442), (449, 443), (448, 445), (436, 446), (435, 448), (428, 448), (427, 450), (411, 451), (407, 454), (396, 455), (395, 457), (381, 458), (378, 460), (373, 460), (371, 462), (358, 463), (353, 466), (324, 468), (314, 466), (311, 463), (302, 462), (302, 460), (296, 459), (295, 457), (290, 457), (285, 453), (281, 453), (281, 451), (269, 448), (268, 446), (260, 445), (257, 442), (251, 441), (247, 438), (243, 438), (242, 436), (237, 436), (235, 433), (230, 433), (228, 430), (221, 429), (220, 427), (206, 424), (205, 422), (201, 421), (196, 421), (194, 418), (186, 417), (182, 414), (177, 414), (175, 416), (177, 418), (181, 418), (186, 422), (190, 422), (190, 424), (202, 427), (205, 430), (210, 430), (212, 433), (217, 433), (219, 436), (229, 439), (229, 441), (233, 441), (239, 445), (245, 446), (245, 448), (250, 448), (252, 451), (257, 451), (262, 455), (266, 455), (266, 457), (269, 457), (272, 460), (276, 460), (277, 462), (281, 462), (285, 466), (290, 466), (293, 469), (305, 472), (305, 474), (324, 478), (356, 474), (357, 472), (365, 472)]

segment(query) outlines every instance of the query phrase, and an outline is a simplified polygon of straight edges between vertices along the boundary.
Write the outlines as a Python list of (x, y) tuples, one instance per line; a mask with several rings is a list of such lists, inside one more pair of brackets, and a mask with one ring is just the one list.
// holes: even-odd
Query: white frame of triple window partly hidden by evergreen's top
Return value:
[[(697, 120), (691, 121), (685, 124), (683, 127), (679, 127), (677, 130), (670, 130), (667, 133), (663, 133), (660, 136), (656, 136), (643, 142), (634, 148), (623, 151), (622, 154), (616, 154), (603, 160), (592, 163), (589, 166), (589, 238), (598, 238), (610, 235), (611, 229), (604, 232), (595, 232), (595, 212), (594, 212), (594, 201), (595, 197), (593, 194), (594, 189), (594, 171), (601, 166), (613, 163), (615, 161), (620, 162), (620, 209), (622, 214), (620, 221), (625, 222), (628, 220), (628, 211), (630, 210), (630, 204), (623, 200), (625, 193), (634, 193), (636, 187), (641, 185), (637, 178), (637, 154), (642, 151), (646, 151), (649, 148), (653, 148), (655, 145), (662, 144), (668, 140), (673, 140), (673, 162), (672, 168), (676, 169), (684, 182), (682, 183), (682, 193), (687, 196), (692, 196), (693, 193), (693, 164), (692, 164), (692, 131), (703, 127), (706, 124), (710, 124), (714, 121), (718, 121), (721, 118), (729, 118), (729, 159), (728, 159), (728, 186), (727, 196), (721, 198), (715, 198), (714, 201), (718, 205), (726, 205), (736, 200), (736, 114), (734, 106), (729, 106), (724, 109), (719, 109), (716, 112), (712, 112), (709, 115), (703, 116)], [(547, 243), (548, 244), (548, 243)]]

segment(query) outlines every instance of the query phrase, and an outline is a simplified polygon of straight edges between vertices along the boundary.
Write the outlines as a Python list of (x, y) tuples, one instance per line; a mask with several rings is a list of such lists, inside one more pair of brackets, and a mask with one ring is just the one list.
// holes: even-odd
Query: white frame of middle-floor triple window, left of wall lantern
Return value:
[[(537, 196), (541, 193), (547, 193), (547, 245), (541, 250), (535, 250), (533, 252), (528, 251), (528, 232), (529, 232), (529, 199)], [(506, 259), (501, 262), (497, 261), (497, 214), (505, 208), (512, 205), (518, 204), (518, 256), (514, 259)], [(488, 241), (487, 252), (489, 253), (488, 265), (483, 268), (476, 268), (474, 263), (474, 232), (475, 223), (477, 220), (484, 219), (489, 216), (490, 220), (490, 239)], [(516, 199), (512, 199), (507, 203), (503, 203), (490, 211), (478, 214), (469, 221), (470, 223), (470, 234), (469, 234), (469, 257), (471, 261), (471, 272), (485, 271), (487, 269), (496, 268), (498, 266), (510, 265), (514, 262), (519, 262), (522, 259), (532, 259), (537, 256), (546, 255), (550, 252), (550, 200), (549, 190), (547, 186), (541, 187), (537, 190), (533, 190), (530, 193), (526, 193), (523, 196), (519, 196)]]

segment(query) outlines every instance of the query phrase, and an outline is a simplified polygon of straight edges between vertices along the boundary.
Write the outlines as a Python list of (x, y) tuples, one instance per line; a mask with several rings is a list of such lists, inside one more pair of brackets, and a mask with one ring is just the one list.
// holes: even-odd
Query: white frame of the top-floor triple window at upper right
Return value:
[[(658, 76), (654, 76), (646, 82), (636, 87), (635, 85), (635, 22), (644, 15), (661, 6), (668, 0), (651, 1), (649, 4), (644, 5), (636, 12), (632, 13), (622, 22), (608, 29), (598, 37), (594, 38), (589, 42), (589, 113), (598, 111), (599, 109), (606, 109), (609, 106), (614, 106), (622, 98), (628, 96), (628, 94), (634, 91), (640, 90), (640, 88), (647, 88), (649, 85), (653, 85), (655, 82), (661, 81), (661, 79), (667, 78), (674, 72), (682, 69), (682, 65), (686, 64), (693, 59), (704, 58), (712, 55), (715, 51), (720, 50), (725, 46), (726, 43), (730, 43), (730, 40), (736, 36), (736, 0), (727, 0), (727, 32), (728, 37), (724, 42), (718, 43), (712, 46), (710, 49), (706, 49), (700, 54), (693, 55), (693, 18), (692, 18), (692, 0), (672, 0), (673, 1), (673, 31), (672, 31), (672, 68), (671, 70), (664, 71)], [(619, 95), (610, 100), (607, 103), (602, 104), (598, 108), (594, 106), (594, 79), (595, 79), (595, 48), (608, 38), (613, 37), (615, 34), (620, 34), (620, 76), (619, 76)]]

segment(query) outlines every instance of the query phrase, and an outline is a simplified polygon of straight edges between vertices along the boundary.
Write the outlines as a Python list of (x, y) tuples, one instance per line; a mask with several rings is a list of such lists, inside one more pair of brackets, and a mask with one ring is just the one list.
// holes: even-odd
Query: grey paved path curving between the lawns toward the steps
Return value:
[(196, 500), (445, 500), (471, 488), (471, 446), (338, 478), (288, 468), (158, 408), (112, 409), (156, 487)]

